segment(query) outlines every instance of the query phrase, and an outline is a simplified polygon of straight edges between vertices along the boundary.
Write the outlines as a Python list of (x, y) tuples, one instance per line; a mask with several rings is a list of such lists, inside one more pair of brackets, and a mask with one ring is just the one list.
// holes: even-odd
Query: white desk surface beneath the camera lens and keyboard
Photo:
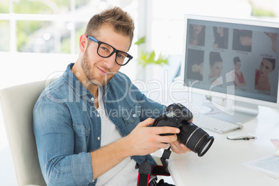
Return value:
[[(169, 171), (176, 186), (187, 185), (279, 185), (279, 180), (242, 163), (273, 155), (270, 139), (279, 137), (279, 112), (259, 107), (259, 115), (243, 124), (243, 132), (253, 133), (255, 140), (227, 140), (228, 133), (207, 131), (214, 143), (203, 157), (196, 153), (171, 153)], [(279, 158), (279, 157), (278, 157)]]

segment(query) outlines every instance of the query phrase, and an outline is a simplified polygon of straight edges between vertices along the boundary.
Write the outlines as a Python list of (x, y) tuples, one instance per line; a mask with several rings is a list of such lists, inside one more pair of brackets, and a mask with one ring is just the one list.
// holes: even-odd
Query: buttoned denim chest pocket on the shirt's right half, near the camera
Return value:
[(140, 123), (141, 106), (139, 103), (122, 108), (122, 119), (129, 131), (132, 131)]

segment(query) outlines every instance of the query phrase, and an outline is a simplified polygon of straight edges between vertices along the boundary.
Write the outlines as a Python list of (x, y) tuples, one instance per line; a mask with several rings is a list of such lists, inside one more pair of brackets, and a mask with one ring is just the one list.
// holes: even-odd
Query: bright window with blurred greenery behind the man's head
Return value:
[(135, 11), (135, 2), (0, 0), (0, 51), (78, 53), (92, 15), (112, 6)]

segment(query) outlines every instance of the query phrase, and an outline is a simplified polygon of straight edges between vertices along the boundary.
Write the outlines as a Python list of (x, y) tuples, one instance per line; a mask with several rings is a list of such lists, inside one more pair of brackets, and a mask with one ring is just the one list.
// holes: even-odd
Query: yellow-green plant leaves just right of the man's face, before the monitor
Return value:
[[(141, 37), (137, 42), (135, 42), (135, 45), (140, 46), (141, 44), (145, 43), (145, 37)], [(158, 56), (158, 59), (155, 60), (155, 51), (144, 51), (140, 50), (140, 56), (138, 57), (138, 63), (142, 65), (142, 67), (146, 67), (146, 65), (150, 64), (156, 64), (156, 65), (168, 65), (169, 61), (167, 57), (160, 55)]]

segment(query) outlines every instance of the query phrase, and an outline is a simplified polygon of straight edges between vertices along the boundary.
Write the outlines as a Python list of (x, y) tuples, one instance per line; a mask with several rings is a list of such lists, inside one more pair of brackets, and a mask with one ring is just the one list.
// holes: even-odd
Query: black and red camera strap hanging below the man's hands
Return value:
[(147, 161), (147, 156), (140, 164), (139, 167), (139, 175), (137, 177), (137, 186), (148, 186), (149, 185), (149, 178), (150, 175), (153, 176), (171, 176), (169, 174), (169, 170), (167, 169), (167, 159), (169, 159), (169, 156), (171, 155), (171, 151), (169, 149), (164, 149), (164, 153), (162, 154), (162, 157), (160, 158), (162, 162), (162, 166), (160, 165), (155, 165), (153, 169), (151, 170), (151, 165)]

